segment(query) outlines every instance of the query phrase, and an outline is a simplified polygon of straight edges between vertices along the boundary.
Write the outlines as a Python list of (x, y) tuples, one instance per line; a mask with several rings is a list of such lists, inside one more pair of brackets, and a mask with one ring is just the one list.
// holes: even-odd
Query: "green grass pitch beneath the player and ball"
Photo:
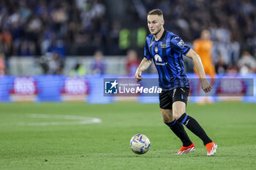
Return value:
[[(195, 152), (172, 155), (179, 139), (162, 123), (158, 104), (0, 104), (0, 169), (256, 169), (256, 104), (199, 106), (187, 114), (219, 146), (206, 157), (203, 142), (187, 130)], [(88, 118), (101, 123), (85, 124)], [(129, 149), (135, 134), (151, 149)]]

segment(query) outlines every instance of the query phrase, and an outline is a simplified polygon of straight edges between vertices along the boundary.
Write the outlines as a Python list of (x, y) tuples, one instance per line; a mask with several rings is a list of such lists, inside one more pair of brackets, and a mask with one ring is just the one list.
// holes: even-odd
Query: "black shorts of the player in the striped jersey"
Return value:
[(175, 88), (173, 90), (162, 90), (159, 93), (159, 105), (161, 109), (172, 109), (175, 101), (183, 101), (187, 105), (189, 88)]

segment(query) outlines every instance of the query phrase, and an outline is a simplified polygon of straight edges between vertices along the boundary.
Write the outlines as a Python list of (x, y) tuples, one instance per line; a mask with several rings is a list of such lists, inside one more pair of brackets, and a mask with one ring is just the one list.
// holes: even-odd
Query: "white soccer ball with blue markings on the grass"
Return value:
[(145, 134), (135, 134), (129, 142), (129, 147), (139, 155), (144, 154), (149, 150), (150, 140)]

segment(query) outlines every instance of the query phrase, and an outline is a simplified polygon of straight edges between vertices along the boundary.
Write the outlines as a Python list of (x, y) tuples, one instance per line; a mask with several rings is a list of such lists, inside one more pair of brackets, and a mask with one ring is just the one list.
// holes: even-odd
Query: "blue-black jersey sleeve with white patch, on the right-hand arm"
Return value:
[(174, 50), (182, 53), (183, 55), (186, 55), (190, 50), (190, 47), (187, 46), (184, 41), (176, 35), (170, 39), (170, 45)]

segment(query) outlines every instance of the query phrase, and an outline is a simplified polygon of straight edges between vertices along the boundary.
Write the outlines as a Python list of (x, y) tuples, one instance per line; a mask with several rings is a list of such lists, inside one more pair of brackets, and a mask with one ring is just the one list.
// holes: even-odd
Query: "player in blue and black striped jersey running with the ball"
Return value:
[(185, 45), (179, 36), (166, 31), (164, 23), (165, 20), (160, 9), (148, 12), (148, 29), (151, 34), (146, 37), (145, 56), (138, 66), (135, 79), (142, 80), (142, 72), (148, 69), (148, 66), (154, 61), (159, 74), (159, 86), (162, 88), (162, 93), (159, 93), (162, 120), (183, 143), (176, 154), (186, 154), (195, 150), (195, 144), (191, 142), (184, 130), (183, 125), (186, 125), (190, 131), (203, 140), (207, 155), (214, 155), (217, 144), (207, 136), (197, 120), (186, 114), (189, 80), (184, 73), (182, 55), (192, 58), (200, 76), (202, 88), (206, 93), (211, 90), (211, 85), (206, 80), (200, 56)]

